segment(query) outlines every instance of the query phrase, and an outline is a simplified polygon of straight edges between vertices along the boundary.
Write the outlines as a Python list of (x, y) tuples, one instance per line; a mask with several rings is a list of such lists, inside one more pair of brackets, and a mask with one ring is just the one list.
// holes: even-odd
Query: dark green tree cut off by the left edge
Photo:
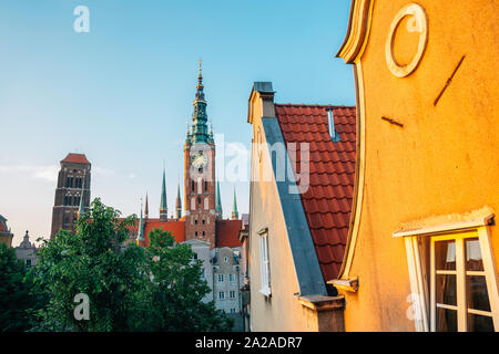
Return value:
[(0, 243), (0, 332), (26, 331), (30, 327), (28, 310), (35, 299), (24, 263), (16, 251)]

